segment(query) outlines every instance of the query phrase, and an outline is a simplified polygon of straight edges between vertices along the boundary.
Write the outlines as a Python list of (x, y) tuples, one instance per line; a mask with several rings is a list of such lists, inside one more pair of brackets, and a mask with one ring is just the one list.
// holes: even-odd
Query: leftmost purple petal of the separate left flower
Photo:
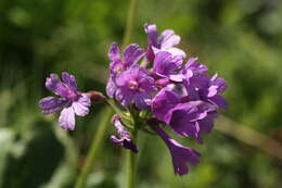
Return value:
[(38, 104), (43, 114), (50, 114), (61, 111), (66, 103), (63, 98), (46, 97)]

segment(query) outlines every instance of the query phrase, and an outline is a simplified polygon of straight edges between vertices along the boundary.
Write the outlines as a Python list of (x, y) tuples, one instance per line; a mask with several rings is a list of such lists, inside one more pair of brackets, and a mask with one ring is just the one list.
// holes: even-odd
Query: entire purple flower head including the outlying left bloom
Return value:
[(88, 114), (90, 99), (112, 100), (119, 110), (112, 121), (117, 134), (111, 140), (137, 153), (139, 149), (130, 130), (154, 131), (169, 149), (175, 173), (184, 175), (188, 165), (198, 163), (201, 154), (174, 140), (164, 128), (167, 126), (177, 136), (192, 137), (202, 143), (202, 135), (211, 130), (218, 110), (227, 108), (221, 97), (227, 85), (217, 74), (208, 76), (207, 66), (196, 58), (184, 60), (187, 54), (176, 47), (180, 37), (174, 30), (158, 35), (155, 25), (145, 25), (144, 30), (145, 50), (131, 43), (121, 54), (117, 43), (111, 46), (107, 98), (97, 91), (79, 92), (75, 77), (68, 73), (62, 74), (62, 82), (51, 74), (46, 87), (61, 98), (43, 98), (39, 105), (44, 114), (62, 110), (61, 127), (73, 130), (75, 114)]

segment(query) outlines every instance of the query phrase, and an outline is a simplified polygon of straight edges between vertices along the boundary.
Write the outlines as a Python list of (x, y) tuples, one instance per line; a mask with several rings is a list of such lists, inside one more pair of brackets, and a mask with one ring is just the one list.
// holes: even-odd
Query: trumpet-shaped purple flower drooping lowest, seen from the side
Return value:
[(198, 164), (198, 158), (201, 156), (201, 154), (197, 151), (178, 143), (157, 125), (152, 126), (152, 128), (161, 136), (161, 138), (165, 141), (167, 148), (169, 149), (170, 155), (172, 158), (175, 173), (177, 175), (181, 176), (188, 174), (188, 164)]

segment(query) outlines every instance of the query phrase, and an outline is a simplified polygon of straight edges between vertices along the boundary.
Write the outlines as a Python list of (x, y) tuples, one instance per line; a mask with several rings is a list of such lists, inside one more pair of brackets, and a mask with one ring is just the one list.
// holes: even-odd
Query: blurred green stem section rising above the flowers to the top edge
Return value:
[(134, 27), (134, 13), (137, 10), (137, 0), (130, 0), (127, 21), (126, 21), (126, 32), (123, 40), (123, 48), (130, 42), (131, 35)]

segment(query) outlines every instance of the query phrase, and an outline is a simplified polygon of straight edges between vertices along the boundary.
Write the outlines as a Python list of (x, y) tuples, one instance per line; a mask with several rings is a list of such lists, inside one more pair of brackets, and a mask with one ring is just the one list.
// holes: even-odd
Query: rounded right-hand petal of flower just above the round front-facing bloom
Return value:
[(127, 66), (130, 66), (131, 64), (136, 63), (143, 55), (144, 50), (139, 48), (139, 46), (136, 43), (129, 45), (124, 51), (125, 63), (127, 64)]

